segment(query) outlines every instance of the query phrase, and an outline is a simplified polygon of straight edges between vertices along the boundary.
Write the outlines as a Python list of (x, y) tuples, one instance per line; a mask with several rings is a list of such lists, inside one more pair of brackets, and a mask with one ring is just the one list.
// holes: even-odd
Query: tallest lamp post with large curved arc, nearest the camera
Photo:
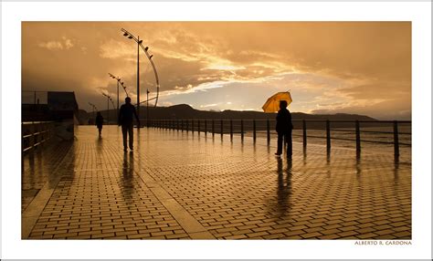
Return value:
[[(153, 55), (150, 55), (147, 51), (149, 49), (149, 47), (144, 47), (143, 46), (143, 40), (140, 40), (140, 37), (134, 37), (130, 32), (128, 32), (127, 30), (121, 28), (121, 32), (123, 32), (123, 37), (128, 37), (129, 39), (133, 39), (136, 43), (137, 43), (137, 116), (140, 119), (140, 104), (143, 102), (147, 102), (149, 103), (149, 100), (151, 99), (155, 99), (155, 103), (154, 103), (154, 107), (156, 107), (156, 104), (158, 103), (158, 96), (159, 96), (159, 78), (158, 78), (158, 73), (156, 72), (156, 68), (153, 64), (153, 60), (152, 57)], [(146, 55), (146, 57), (149, 59), (152, 67), (153, 67), (153, 72), (155, 75), (155, 80), (156, 80), (156, 96), (149, 99), (149, 91), (147, 93), (147, 100), (145, 101), (140, 101), (140, 47), (142, 47), (144, 54)], [(149, 104), (147, 104), (147, 107), (149, 107)], [(149, 110), (148, 110), (149, 111)]]

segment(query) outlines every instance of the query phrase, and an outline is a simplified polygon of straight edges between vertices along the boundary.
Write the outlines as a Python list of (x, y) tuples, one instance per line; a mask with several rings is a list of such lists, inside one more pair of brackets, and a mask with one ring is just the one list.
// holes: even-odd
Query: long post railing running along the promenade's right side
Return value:
[[(410, 120), (292, 120), (296, 131), (301, 134), (292, 133), (294, 137), (300, 137), (304, 150), (307, 148), (309, 138), (323, 139), (326, 142), (327, 153), (331, 152), (332, 141), (354, 141), (354, 147), (357, 154), (361, 153), (363, 143), (380, 143), (394, 146), (394, 155), (396, 158), (400, 155), (400, 147), (411, 147), (411, 142), (402, 142), (400, 137), (407, 135), (411, 137), (411, 131), (401, 132), (399, 127), (402, 125), (411, 125)], [(176, 131), (196, 131), (204, 132), (212, 136), (229, 134), (230, 139), (233, 135), (240, 135), (243, 141), (246, 134), (252, 136), (252, 141), (256, 142), (258, 136), (266, 136), (268, 145), (271, 136), (276, 132), (271, 125), (275, 126), (275, 120), (149, 120), (148, 127), (176, 130)], [(333, 128), (334, 127), (334, 128)], [(392, 128), (392, 131), (362, 131), (365, 127)], [(309, 135), (309, 131), (324, 131), (324, 136)], [(335, 133), (346, 133), (353, 138), (341, 137)], [(374, 141), (362, 139), (362, 134), (385, 134), (391, 135), (393, 141)], [(407, 139), (406, 139), (407, 140)]]

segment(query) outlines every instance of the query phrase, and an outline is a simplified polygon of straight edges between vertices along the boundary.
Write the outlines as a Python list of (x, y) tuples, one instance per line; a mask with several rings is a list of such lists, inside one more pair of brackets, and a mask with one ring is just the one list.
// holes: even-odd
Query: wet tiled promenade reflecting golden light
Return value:
[(411, 162), (229, 135), (79, 126), (72, 144), (26, 155), (29, 239), (410, 239)]

